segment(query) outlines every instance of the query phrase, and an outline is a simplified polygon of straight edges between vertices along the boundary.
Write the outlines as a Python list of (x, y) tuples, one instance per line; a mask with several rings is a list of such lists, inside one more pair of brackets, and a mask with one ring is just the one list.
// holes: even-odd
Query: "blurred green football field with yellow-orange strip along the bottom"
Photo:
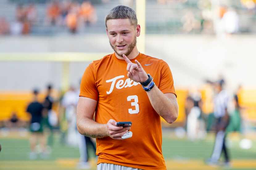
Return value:
[[(28, 136), (18, 134), (0, 135), (0, 170), (71, 170), (76, 169), (79, 160), (79, 151), (76, 147), (69, 147), (60, 144), (59, 134), (56, 133), (52, 154), (47, 159), (29, 160)], [(256, 170), (256, 141), (253, 141), (252, 148), (241, 149), (239, 141), (241, 136), (229, 136), (229, 151), (231, 157), (231, 168), (213, 167), (204, 164), (204, 160), (211, 154), (213, 148), (213, 134), (204, 140), (191, 142), (186, 138), (179, 139), (169, 131), (163, 133), (163, 155), (166, 160), (167, 170)], [(147, 154), (147, 153), (145, 153)], [(96, 169), (94, 153), (90, 152), (91, 170)]]

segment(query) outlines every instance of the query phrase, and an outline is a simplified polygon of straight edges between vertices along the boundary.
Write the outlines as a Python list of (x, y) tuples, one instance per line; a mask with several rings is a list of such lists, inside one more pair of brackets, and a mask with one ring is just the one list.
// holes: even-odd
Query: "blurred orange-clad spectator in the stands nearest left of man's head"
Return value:
[(85, 24), (90, 25), (97, 21), (95, 8), (89, 1), (84, 1), (81, 5), (80, 15)]

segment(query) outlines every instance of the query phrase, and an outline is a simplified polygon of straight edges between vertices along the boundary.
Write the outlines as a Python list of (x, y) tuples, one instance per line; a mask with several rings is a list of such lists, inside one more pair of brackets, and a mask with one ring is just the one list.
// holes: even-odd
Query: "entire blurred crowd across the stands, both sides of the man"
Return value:
[[(29, 34), (35, 25), (38, 28), (41, 26), (62, 26), (68, 28), (71, 33), (76, 33), (80, 27), (95, 25), (97, 22), (96, 8), (89, 0), (79, 2), (70, 0), (50, 1), (46, 5), (46, 9), (44, 9), (44, 21), (41, 21), (41, 18), (38, 16), (35, 4), (18, 5), (15, 12), (15, 21), (9, 22), (6, 18), (0, 16), (0, 35)], [(122, 5), (134, 6), (133, 0), (119, 0), (119, 2)], [(242, 8), (240, 7), (239, 10), (232, 4), (226, 3), (226, 1), (212, 4), (210, 0), (199, 0), (196, 7), (193, 8), (185, 6), (184, 4), (189, 1), (184, 0), (157, 0), (156, 2), (160, 6), (170, 6), (170, 10), (179, 11), (181, 15), (179, 16), (178, 23), (171, 20), (171, 18), (177, 16), (170, 16), (165, 21), (167, 27), (174, 26), (174, 29), (178, 29), (176, 31), (179, 33), (217, 34), (217, 36), (236, 34), (242, 31), (239, 30), (239, 16), (248, 14), (248, 16), (250, 15), (253, 18), (253, 15), (256, 13), (255, 0), (240, 0)], [(111, 3), (111, 0), (101, 0), (101, 3), (104, 6), (106, 3)], [(179, 9), (178, 6), (184, 7)], [(241, 9), (247, 9), (247, 12), (241, 13)], [(173, 23), (168, 25), (168, 22)], [(244, 25), (253, 24), (243, 22)], [(160, 29), (164, 30), (167, 28)]]

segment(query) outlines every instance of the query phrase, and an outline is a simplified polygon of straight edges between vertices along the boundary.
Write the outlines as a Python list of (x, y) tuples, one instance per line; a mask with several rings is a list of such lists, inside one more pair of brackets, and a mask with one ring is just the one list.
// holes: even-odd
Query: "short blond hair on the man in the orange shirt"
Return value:
[(109, 11), (105, 18), (105, 25), (107, 28), (107, 21), (109, 19), (129, 19), (131, 24), (137, 26), (138, 20), (136, 13), (133, 9), (128, 6), (119, 5)]

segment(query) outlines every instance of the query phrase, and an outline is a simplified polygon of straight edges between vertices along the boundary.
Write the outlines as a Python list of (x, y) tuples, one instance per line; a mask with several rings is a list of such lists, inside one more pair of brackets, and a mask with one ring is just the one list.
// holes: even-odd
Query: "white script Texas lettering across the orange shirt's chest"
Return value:
[[(137, 83), (137, 82), (131, 80), (130, 78), (127, 78), (125, 81), (124, 80), (118, 80), (120, 78), (124, 78), (124, 75), (117, 76), (117, 77), (114, 77), (112, 79), (106, 80), (107, 83), (112, 82), (109, 91), (107, 91), (107, 94), (112, 93), (112, 91), (114, 89), (114, 86), (117, 89), (122, 89), (122, 88), (131, 87), (131, 86), (140, 84), (140, 83)], [(117, 81), (117, 83), (116, 83), (116, 81)]]

